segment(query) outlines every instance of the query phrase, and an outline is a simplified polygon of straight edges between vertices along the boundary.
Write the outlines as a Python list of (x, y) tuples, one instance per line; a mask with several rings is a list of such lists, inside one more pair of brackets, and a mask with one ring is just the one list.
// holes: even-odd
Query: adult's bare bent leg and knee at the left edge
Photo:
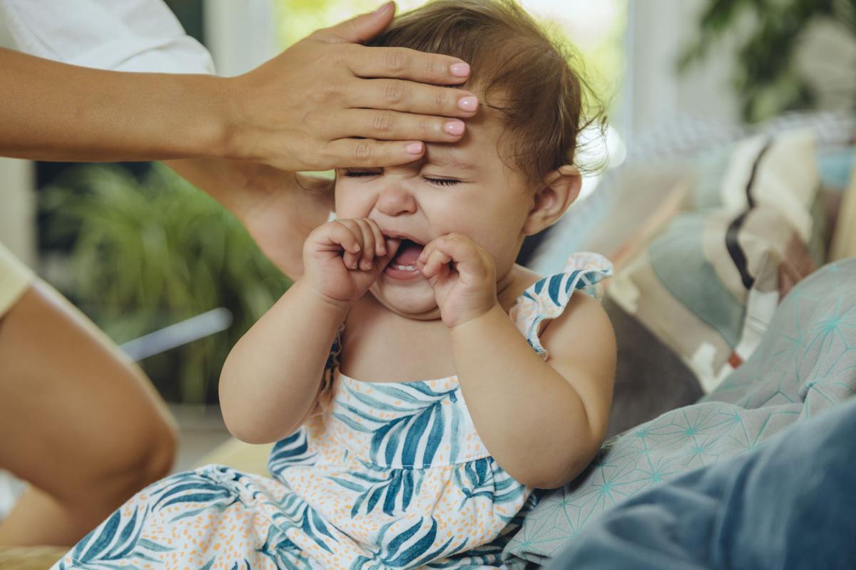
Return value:
[(31, 486), (0, 544), (71, 545), (169, 472), (175, 427), (138, 367), (49, 285), (0, 316), (0, 468)]

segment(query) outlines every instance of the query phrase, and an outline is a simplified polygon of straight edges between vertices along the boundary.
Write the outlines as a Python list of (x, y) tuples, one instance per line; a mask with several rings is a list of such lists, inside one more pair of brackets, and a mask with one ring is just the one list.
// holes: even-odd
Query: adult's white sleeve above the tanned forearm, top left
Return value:
[(163, 0), (0, 0), (21, 51), (87, 68), (214, 73)]

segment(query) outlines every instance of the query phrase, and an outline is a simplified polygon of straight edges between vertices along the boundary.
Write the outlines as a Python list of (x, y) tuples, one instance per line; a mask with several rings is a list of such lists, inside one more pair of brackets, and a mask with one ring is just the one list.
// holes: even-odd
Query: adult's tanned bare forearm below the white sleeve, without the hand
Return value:
[(106, 162), (228, 155), (228, 79), (102, 71), (2, 49), (0, 69), (3, 156)]

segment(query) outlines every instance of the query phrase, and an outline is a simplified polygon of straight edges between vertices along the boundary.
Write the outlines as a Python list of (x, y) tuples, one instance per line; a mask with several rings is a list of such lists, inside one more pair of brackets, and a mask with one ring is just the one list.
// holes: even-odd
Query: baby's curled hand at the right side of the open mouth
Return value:
[(496, 262), (467, 236), (453, 232), (431, 240), (416, 266), (434, 288), (440, 316), (449, 328), (496, 305)]

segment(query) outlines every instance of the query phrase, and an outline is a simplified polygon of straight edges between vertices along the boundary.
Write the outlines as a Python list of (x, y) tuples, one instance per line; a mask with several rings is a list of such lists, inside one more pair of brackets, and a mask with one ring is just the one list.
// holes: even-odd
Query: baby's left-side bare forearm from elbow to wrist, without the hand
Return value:
[(294, 432), (315, 402), (346, 313), (298, 281), (241, 338), (220, 377), (223, 418), (235, 437), (262, 444)]

